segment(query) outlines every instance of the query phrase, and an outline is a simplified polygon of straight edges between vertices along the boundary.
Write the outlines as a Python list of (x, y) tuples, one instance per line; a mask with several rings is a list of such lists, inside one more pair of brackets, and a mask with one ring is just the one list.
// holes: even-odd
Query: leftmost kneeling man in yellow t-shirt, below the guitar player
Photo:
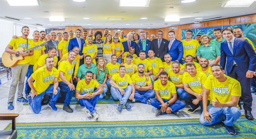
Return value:
[[(39, 113), (42, 108), (42, 98), (44, 94), (52, 94), (48, 106), (56, 111), (55, 102), (58, 99), (60, 88), (58, 87), (59, 72), (54, 67), (54, 58), (45, 58), (45, 65), (38, 68), (28, 79), (31, 87), (31, 94), (28, 96), (29, 105), (34, 113)], [(35, 82), (33, 83), (33, 81)], [(54, 84), (52, 84), (54, 83)]]

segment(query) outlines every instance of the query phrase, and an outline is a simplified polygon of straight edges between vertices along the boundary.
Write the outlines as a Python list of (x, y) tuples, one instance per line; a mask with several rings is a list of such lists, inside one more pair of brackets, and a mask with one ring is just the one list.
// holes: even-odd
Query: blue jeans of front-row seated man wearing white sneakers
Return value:
[[(95, 90), (94, 92), (96, 92), (97, 90)], [(85, 92), (81, 92), (81, 95), (86, 94)], [(91, 114), (93, 114), (96, 110), (95, 110), (95, 106), (97, 101), (99, 100), (99, 95), (97, 94), (95, 95), (92, 99), (79, 99), (78, 102), (81, 106), (85, 106), (90, 112)]]

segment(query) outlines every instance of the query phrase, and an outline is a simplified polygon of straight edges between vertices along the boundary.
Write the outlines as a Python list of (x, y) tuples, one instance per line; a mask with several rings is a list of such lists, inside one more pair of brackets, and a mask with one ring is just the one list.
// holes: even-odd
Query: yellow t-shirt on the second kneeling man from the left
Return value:
[[(70, 81), (70, 79), (72, 78), (72, 74), (74, 72), (74, 64), (70, 64), (69, 61), (62, 61), (60, 64), (59, 64), (59, 67), (58, 67), (58, 71), (60, 72), (63, 72), (64, 74), (64, 77)], [(62, 80), (59, 78), (58, 79), (59, 82), (62, 82)]]

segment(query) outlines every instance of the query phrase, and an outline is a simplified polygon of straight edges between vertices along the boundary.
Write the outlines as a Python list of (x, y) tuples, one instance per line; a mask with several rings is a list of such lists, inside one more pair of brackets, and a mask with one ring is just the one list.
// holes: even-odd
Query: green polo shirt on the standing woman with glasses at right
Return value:
[(208, 46), (202, 44), (197, 48), (197, 56), (200, 56), (201, 58), (216, 59), (219, 55), (220, 49), (215, 44), (209, 44)]

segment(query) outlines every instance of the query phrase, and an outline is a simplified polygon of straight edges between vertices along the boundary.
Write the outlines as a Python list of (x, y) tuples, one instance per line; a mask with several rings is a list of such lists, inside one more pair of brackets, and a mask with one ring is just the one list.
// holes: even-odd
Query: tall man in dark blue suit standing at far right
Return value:
[(256, 54), (248, 40), (233, 36), (233, 28), (223, 28), (222, 33), (226, 41), (220, 44), (220, 65), (226, 66), (228, 76), (240, 82), (245, 117), (253, 120), (250, 82), (256, 69)]

